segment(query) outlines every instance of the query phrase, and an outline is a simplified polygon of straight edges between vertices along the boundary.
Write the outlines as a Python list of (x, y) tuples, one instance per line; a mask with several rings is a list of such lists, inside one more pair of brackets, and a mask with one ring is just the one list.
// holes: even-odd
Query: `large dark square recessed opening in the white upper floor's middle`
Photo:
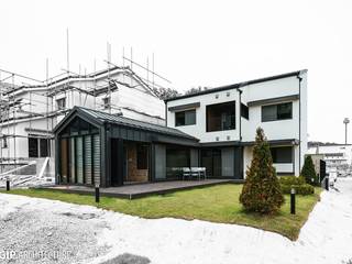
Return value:
[(207, 132), (235, 129), (235, 101), (207, 106)]

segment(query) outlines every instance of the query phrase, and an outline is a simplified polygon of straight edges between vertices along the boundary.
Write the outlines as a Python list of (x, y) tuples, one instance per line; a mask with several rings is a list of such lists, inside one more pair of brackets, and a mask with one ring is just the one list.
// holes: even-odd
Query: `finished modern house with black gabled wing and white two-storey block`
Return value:
[(176, 179), (177, 167), (243, 179), (262, 127), (278, 175), (299, 175), (307, 151), (307, 70), (165, 101), (166, 125), (74, 108), (55, 128), (56, 182), (99, 184)]

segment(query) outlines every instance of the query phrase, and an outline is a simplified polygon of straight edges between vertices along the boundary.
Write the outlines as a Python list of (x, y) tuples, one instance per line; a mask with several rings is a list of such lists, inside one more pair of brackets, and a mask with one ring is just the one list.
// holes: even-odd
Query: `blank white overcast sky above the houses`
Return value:
[[(18, 1), (0, 2), (0, 68), (45, 79), (88, 73), (122, 48), (179, 91), (308, 69), (309, 140), (344, 141), (352, 119), (352, 1)], [(352, 127), (349, 138), (352, 143)]]

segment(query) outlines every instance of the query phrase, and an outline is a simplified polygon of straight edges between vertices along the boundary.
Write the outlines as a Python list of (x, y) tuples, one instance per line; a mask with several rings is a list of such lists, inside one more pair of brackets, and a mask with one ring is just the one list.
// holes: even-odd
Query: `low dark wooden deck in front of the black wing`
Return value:
[[(205, 179), (205, 180), (172, 180), (145, 184), (131, 184), (120, 187), (100, 188), (100, 195), (107, 197), (118, 197), (125, 199), (135, 199), (148, 195), (163, 195), (176, 190), (191, 189), (211, 185), (242, 183), (242, 180), (234, 179)], [(56, 185), (51, 187), (42, 187), (42, 189), (59, 190), (70, 194), (95, 194), (95, 188), (87, 186), (74, 185)]]

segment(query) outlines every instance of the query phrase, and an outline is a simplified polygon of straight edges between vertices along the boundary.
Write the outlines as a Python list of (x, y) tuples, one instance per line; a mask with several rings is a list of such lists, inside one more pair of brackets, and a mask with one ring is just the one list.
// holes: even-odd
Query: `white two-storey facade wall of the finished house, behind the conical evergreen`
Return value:
[[(207, 108), (224, 102), (233, 102), (235, 125), (232, 125), (230, 130), (207, 132)], [(263, 107), (274, 107), (285, 102), (292, 103), (290, 118), (274, 121), (262, 120)], [(248, 107), (249, 120), (240, 114), (241, 103)], [(307, 152), (307, 70), (182, 96), (167, 100), (166, 108), (166, 124), (199, 139), (200, 144), (243, 146), (244, 172), (252, 160), (255, 131), (261, 127), (271, 146), (292, 147), (293, 157), (289, 163), (274, 164), (277, 173), (299, 175)], [(189, 125), (176, 125), (177, 112), (191, 109), (196, 111), (196, 122)]]

